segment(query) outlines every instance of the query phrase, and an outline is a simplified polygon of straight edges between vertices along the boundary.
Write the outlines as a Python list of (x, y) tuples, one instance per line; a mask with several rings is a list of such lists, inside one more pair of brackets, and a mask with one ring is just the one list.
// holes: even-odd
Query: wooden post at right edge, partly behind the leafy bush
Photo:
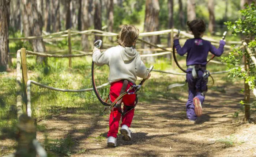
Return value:
[[(245, 42), (248, 44), (249, 43), (249, 39), (245, 39)], [(249, 70), (249, 65), (247, 62), (247, 58), (246, 58), (246, 48), (245, 48), (245, 52), (244, 52), (244, 69), (247, 72), (247, 70)], [(249, 75), (249, 72), (247, 72)], [(244, 79), (244, 103), (245, 103), (245, 120), (248, 121), (250, 119), (250, 87), (249, 84), (246, 83), (246, 80)]]

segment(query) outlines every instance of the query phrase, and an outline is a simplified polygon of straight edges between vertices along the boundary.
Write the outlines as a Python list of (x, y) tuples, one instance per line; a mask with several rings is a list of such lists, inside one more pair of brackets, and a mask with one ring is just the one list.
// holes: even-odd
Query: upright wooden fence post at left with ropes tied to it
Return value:
[(23, 83), (23, 93), (25, 98), (25, 106), (27, 112), (27, 52), (25, 48), (20, 49), (21, 54), (21, 67), (22, 67), (22, 83)]

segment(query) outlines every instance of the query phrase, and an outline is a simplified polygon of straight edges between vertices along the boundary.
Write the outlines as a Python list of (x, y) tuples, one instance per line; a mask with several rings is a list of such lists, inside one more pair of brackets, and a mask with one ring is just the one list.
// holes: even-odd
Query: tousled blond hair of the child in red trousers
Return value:
[(131, 47), (137, 41), (139, 32), (135, 26), (125, 24), (117, 35), (117, 43), (123, 47)]

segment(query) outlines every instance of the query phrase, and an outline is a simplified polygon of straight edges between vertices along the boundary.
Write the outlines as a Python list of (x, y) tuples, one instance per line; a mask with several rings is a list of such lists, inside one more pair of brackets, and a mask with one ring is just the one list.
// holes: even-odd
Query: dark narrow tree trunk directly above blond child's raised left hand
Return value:
[[(101, 24), (101, 0), (95, 0), (94, 1), (95, 6), (95, 12), (94, 12), (94, 29), (95, 30), (101, 30), (102, 24)], [(102, 37), (95, 35), (95, 41), (101, 39)]]

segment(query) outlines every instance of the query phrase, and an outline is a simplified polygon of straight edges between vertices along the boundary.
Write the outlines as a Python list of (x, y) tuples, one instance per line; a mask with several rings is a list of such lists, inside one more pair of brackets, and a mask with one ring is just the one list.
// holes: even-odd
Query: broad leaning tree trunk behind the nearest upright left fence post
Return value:
[[(22, 0), (23, 2), (23, 17), (24, 29), (26, 37), (28, 36), (40, 36), (42, 35), (43, 20), (42, 15), (37, 10), (37, 1), (34, 0)], [(43, 39), (32, 40), (33, 51), (45, 52), (45, 45)], [(37, 61), (46, 62), (46, 58), (37, 57)]]

